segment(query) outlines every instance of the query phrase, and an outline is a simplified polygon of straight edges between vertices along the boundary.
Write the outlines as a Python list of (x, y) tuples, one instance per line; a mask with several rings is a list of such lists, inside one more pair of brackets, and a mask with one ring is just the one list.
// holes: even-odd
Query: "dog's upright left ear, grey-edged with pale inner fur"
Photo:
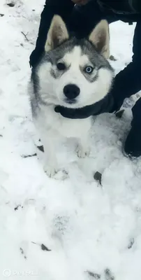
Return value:
[(64, 21), (59, 15), (54, 15), (45, 43), (45, 52), (57, 48), (61, 43), (68, 39), (68, 31)]

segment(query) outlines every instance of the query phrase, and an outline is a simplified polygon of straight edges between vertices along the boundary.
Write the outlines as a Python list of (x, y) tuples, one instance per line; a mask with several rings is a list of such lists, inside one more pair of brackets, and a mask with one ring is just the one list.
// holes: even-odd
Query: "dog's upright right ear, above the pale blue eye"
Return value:
[(94, 30), (89, 35), (89, 41), (93, 43), (96, 50), (103, 55), (106, 59), (110, 56), (110, 34), (109, 25), (107, 20), (101, 20), (101, 22), (96, 25)]

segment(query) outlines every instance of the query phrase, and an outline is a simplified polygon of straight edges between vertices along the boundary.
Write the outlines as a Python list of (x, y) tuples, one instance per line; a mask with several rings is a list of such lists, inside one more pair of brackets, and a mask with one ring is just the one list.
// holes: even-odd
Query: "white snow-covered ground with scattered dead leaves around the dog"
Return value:
[[(90, 158), (78, 160), (72, 141), (60, 147), (69, 179), (47, 178), (36, 156), (26, 158), (36, 153), (28, 60), (44, 1), (6, 3), (0, 3), (0, 279), (140, 280), (141, 162), (122, 153), (138, 97), (125, 103), (121, 119), (96, 118)], [(134, 28), (110, 27), (116, 72), (131, 60)]]

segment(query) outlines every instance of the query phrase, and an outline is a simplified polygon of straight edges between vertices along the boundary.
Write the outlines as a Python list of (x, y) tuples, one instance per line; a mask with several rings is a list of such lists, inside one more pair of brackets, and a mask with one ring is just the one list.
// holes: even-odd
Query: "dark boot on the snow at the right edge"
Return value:
[(141, 156), (141, 98), (133, 106), (133, 120), (131, 131), (128, 133), (124, 145), (124, 151), (131, 157), (138, 158)]

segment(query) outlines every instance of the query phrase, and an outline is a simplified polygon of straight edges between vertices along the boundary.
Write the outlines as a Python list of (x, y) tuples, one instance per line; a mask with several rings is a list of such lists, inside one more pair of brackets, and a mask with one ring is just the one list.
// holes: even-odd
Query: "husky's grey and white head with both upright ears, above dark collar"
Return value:
[(38, 66), (43, 102), (80, 108), (103, 99), (110, 90), (113, 71), (107, 62), (109, 31), (105, 20), (89, 39), (68, 38), (66, 25), (54, 16)]

